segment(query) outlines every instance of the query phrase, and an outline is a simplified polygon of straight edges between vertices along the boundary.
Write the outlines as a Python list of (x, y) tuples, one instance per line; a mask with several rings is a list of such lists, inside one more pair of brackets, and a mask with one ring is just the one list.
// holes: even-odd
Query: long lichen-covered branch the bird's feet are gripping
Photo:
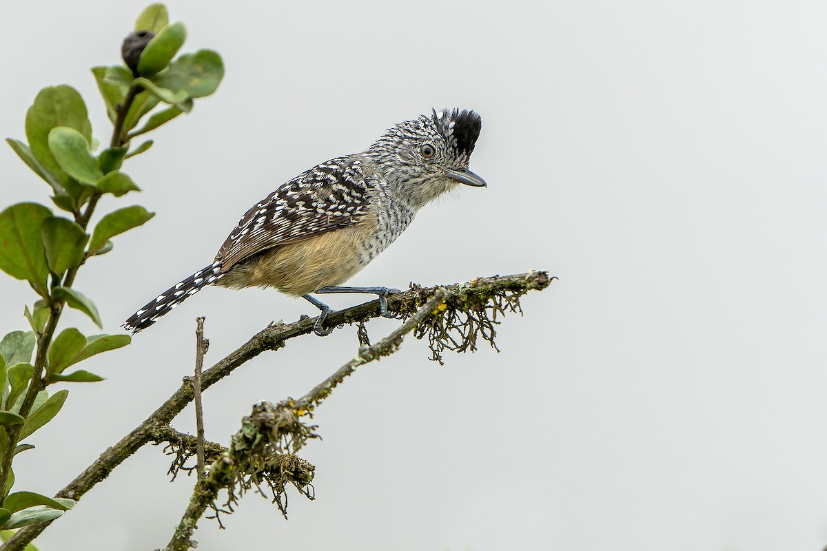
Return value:
[[(529, 272), (477, 278), (471, 282), (455, 283), (444, 287), (413, 286), (407, 292), (388, 297), (388, 310), (409, 318), (434, 297), (438, 289), (444, 288), (447, 292), (445, 301), (442, 303), (444, 310), (440, 306), (437, 312), (442, 316), (426, 316), (414, 332), (418, 338), (428, 337), (432, 359), (441, 360), (440, 353), (445, 349), (474, 350), (478, 334), (493, 344), (493, 327), (499, 323), (497, 316), (507, 311), (519, 311), (519, 297), (531, 290), (545, 289), (551, 280), (552, 278), (549, 278), (545, 272)], [(379, 316), (378, 307), (379, 301), (375, 300), (332, 312), (327, 316), (327, 324), (341, 325), (368, 321)], [(306, 318), (289, 324), (268, 325), (232, 354), (204, 371), (202, 390), (212, 387), (213, 384), (265, 350), (280, 349), (284, 347), (287, 340), (312, 333), (314, 322), (315, 318)], [(323, 397), (321, 394), (319, 396)], [(60, 490), (57, 496), (79, 499), (95, 484), (108, 477), (114, 468), (117, 468), (141, 446), (149, 442), (161, 441), (161, 435), (169, 430), (170, 422), (190, 401), (193, 401), (193, 397), (193, 387), (187, 379), (151, 416), (101, 454), (83, 473)], [(26, 526), (12, 536), (12, 539), (2, 544), (0, 550), (22, 550), (26, 543), (45, 530), (50, 522)]]

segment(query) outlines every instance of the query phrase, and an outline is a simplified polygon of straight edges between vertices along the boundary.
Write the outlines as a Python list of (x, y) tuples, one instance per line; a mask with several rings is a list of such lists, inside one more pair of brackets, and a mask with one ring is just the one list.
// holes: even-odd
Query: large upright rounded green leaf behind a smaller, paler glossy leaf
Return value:
[(65, 84), (43, 88), (26, 112), (26, 140), (31, 153), (43, 168), (55, 174), (64, 188), (69, 176), (60, 169), (49, 148), (49, 133), (55, 126), (68, 126), (79, 131), (87, 141), (92, 139), (86, 105), (77, 90)]

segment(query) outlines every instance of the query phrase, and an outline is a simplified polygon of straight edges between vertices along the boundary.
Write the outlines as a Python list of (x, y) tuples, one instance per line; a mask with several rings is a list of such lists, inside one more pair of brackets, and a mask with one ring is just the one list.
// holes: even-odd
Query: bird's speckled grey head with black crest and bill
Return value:
[(481, 128), (476, 112), (432, 110), (430, 115), (394, 125), (365, 154), (375, 158), (387, 170), (386, 177), (421, 207), (460, 183), (485, 186), (485, 180), (468, 169)]

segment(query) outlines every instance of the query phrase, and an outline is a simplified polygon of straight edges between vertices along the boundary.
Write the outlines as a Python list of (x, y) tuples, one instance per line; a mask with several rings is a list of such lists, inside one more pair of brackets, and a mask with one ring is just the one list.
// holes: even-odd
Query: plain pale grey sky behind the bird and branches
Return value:
[[(471, 169), (489, 188), (428, 207), (353, 283), (560, 278), (502, 325), (502, 354), (440, 368), (409, 340), (361, 370), (304, 450), (317, 501), (291, 492), (285, 522), (247, 496), (228, 530), (201, 523), (198, 549), (827, 544), (824, 2), (169, 5), (185, 49), (220, 51), (227, 75), (127, 164), (145, 191), (101, 202), (158, 212), (77, 280), (106, 330), (207, 264), (276, 185), (431, 107), (482, 114)], [(69, 83), (108, 140), (88, 67), (117, 62), (143, 6), (3, 2), (0, 135), (22, 137), (36, 92)], [(3, 205), (48, 203), (11, 150), (0, 167)], [(25, 327), (24, 300), (26, 284), (0, 278), (2, 332)], [(214, 361), (310, 311), (277, 292), (200, 293), (89, 362), (108, 381), (71, 387), (19, 487), (54, 492), (168, 397), (191, 369), (195, 316)], [(354, 334), (291, 341), (213, 387), (208, 438), (227, 442), (254, 401), (307, 391)], [(41, 549), (165, 544), (193, 484), (170, 484), (168, 464), (142, 449)]]

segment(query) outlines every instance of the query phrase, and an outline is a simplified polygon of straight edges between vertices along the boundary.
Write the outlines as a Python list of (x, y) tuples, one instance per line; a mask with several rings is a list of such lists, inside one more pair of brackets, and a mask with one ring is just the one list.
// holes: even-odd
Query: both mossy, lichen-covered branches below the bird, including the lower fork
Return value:
[[(213, 458), (216, 457), (215, 454), (221, 455), (208, 468), (206, 477), (196, 484), (190, 505), (184, 513), (181, 525), (179, 525), (179, 529), (176, 530), (173, 539), (170, 541), (168, 549), (189, 549), (189, 537), (195, 529), (196, 522), (208, 506), (214, 506), (218, 490), (222, 487), (228, 489), (230, 492), (228, 505), (232, 506), (235, 501), (235, 497), (232, 495), (232, 482), (238, 482), (241, 477), (249, 477), (256, 470), (257, 472), (263, 472), (269, 468), (273, 472), (279, 472), (284, 482), (290, 482), (299, 487), (297, 482), (306, 481), (303, 487), (307, 486), (312, 481), (313, 467), (294, 455), (283, 454), (283, 448), (291, 447), (295, 451), (304, 444), (305, 439), (315, 437), (312, 433), (313, 427), (299, 423), (299, 417), (308, 414), (315, 406), (318, 406), (329, 396), (332, 389), (337, 387), (349, 374), (353, 373), (358, 366), (380, 359), (385, 355), (393, 354), (399, 347), (404, 335), (412, 330), (414, 330), (414, 335), (417, 338), (421, 339), (428, 336), (433, 354), (432, 359), (440, 359), (438, 352), (442, 349), (457, 349), (459, 351), (475, 349), (475, 331), (480, 332), (483, 338), (493, 345), (494, 335), (490, 334), (490, 331), (493, 330), (493, 324), (499, 323), (496, 321), (496, 317), (506, 311), (519, 311), (519, 297), (531, 290), (542, 291), (548, 287), (552, 279), (545, 272), (529, 272), (510, 276), (477, 278), (472, 282), (456, 283), (445, 287), (413, 286), (409, 291), (388, 297), (388, 310), (406, 318), (406, 321), (390, 335), (375, 344), (363, 344), (359, 354), (356, 354), (353, 359), (337, 369), (336, 373), (333, 373), (304, 397), (299, 398), (298, 401), (288, 400), (276, 406), (267, 402), (256, 405), (259, 410), (266, 410), (267, 416), (277, 420), (275, 425), (268, 425), (265, 422), (258, 423), (260, 428), (270, 426), (270, 429), (268, 429), (270, 430), (270, 437), (263, 440), (261, 440), (261, 437), (259, 438), (260, 444), (263, 441), (261, 445), (265, 446), (265, 455), (269, 454), (267, 458), (263, 458), (264, 456), (261, 455), (261, 445), (252, 446), (250, 449), (255, 452), (252, 454), (256, 458), (255, 461), (250, 459), (250, 464), (242, 464), (241, 468), (238, 468), (237, 461), (239, 457), (251, 457), (249, 449), (240, 444), (241, 440), (238, 439), (238, 434), (233, 437), (230, 448), (222, 454), (220, 445), (205, 443), (208, 455)], [(488, 311), (490, 311), (490, 314), (487, 313)], [(460, 315), (466, 316), (465, 321), (460, 319)], [(362, 323), (379, 316), (379, 301), (375, 300), (332, 312), (327, 317), (327, 324), (334, 326), (345, 323)], [(490, 319), (491, 316), (493, 316), (493, 320)], [(450, 322), (444, 322), (443, 320), (446, 318)], [(485, 323), (480, 324), (480, 320), (485, 321)], [(226, 358), (204, 371), (200, 384), (201, 390), (213, 386), (236, 368), (265, 350), (278, 350), (284, 347), (287, 340), (312, 333), (314, 323), (315, 318), (304, 318), (290, 324), (268, 325), (256, 335), (253, 335), (250, 340), (242, 344), (232, 354), (227, 355)], [(448, 332), (452, 330), (455, 330), (456, 333), (449, 335)], [(202, 339), (203, 335), (198, 338)], [(198, 342), (200, 343), (200, 341)], [(434, 348), (435, 343), (439, 348)], [(457, 345), (455, 346), (455, 344)], [(183, 435), (170, 428), (170, 423), (174, 417), (193, 400), (192, 382), (187, 378), (181, 387), (151, 416), (124, 436), (117, 444), (101, 454), (83, 473), (80, 473), (72, 482), (69, 482), (60, 492), (57, 492), (56, 496), (79, 499), (95, 484), (108, 477), (108, 474), (114, 468), (117, 468), (144, 444), (170, 442), (173, 446), (186, 444), (188, 449), (191, 449), (189, 446), (195, 440), (197, 445), (198, 439), (194, 439), (191, 435)], [(255, 408), (251, 417), (256, 417)], [(249, 423), (245, 425), (249, 426)], [(244, 431), (245, 428), (242, 426), (240, 433)], [(256, 434), (261, 435), (261, 431), (256, 430)], [(179, 448), (179, 450), (182, 448)], [(239, 455), (238, 451), (241, 449), (246, 450), (246, 454)], [(285, 468), (285, 465), (293, 465), (293, 467)], [(299, 465), (299, 467), (295, 467), (295, 465)], [(252, 468), (252, 471), (245, 470), (246, 468)], [(253, 474), (252, 483), (255, 485), (258, 483), (255, 474)], [(272, 484), (270, 487), (275, 494), (276, 489), (272, 487)], [(284, 512), (284, 508), (278, 501), (279, 499), (280, 496), (278, 495), (274, 497), (274, 501), (279, 503), (282, 512)], [(218, 509), (216, 511), (218, 513)], [(50, 520), (18, 530), (11, 539), (0, 546), (0, 551), (22, 551), (26, 544), (35, 539), (38, 534), (41, 534), (51, 522)]]

